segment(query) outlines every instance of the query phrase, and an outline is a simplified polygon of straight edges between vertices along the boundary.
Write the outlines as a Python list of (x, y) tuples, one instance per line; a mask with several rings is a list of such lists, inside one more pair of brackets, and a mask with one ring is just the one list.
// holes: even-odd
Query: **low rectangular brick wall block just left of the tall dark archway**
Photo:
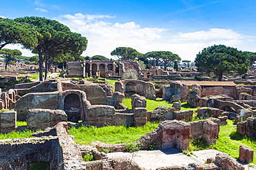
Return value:
[(28, 129), (46, 129), (55, 126), (58, 122), (67, 121), (67, 115), (62, 110), (34, 108), (29, 109), (27, 113)]

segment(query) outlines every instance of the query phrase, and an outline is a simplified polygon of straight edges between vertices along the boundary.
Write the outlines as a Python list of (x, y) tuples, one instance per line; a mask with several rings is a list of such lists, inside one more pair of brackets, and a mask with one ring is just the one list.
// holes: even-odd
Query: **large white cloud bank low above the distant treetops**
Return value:
[[(191, 61), (194, 61), (196, 54), (203, 48), (214, 44), (255, 51), (255, 37), (244, 36), (231, 29), (211, 28), (179, 33), (165, 28), (142, 28), (132, 21), (109, 22), (109, 18), (113, 17), (77, 13), (62, 15), (56, 20), (71, 28), (72, 32), (78, 32), (88, 39), (88, 47), (83, 56), (103, 55), (113, 58), (111, 51), (120, 46), (134, 48), (140, 53), (168, 50), (179, 55), (181, 59)], [(26, 53), (24, 55), (33, 56)]]

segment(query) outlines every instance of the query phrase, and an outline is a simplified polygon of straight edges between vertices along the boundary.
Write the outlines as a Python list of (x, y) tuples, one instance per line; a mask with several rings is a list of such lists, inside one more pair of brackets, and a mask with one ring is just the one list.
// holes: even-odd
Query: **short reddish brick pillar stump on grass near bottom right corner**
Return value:
[(239, 146), (239, 160), (241, 162), (253, 162), (253, 149), (246, 145)]

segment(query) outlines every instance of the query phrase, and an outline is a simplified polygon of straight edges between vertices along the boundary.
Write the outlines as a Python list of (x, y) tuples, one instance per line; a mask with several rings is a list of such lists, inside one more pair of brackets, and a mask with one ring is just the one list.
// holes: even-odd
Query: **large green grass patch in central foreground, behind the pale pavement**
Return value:
[(91, 144), (92, 141), (100, 141), (109, 144), (129, 143), (139, 140), (141, 136), (154, 130), (158, 123), (147, 122), (146, 126), (82, 126), (68, 129), (69, 135), (75, 136), (77, 144)]

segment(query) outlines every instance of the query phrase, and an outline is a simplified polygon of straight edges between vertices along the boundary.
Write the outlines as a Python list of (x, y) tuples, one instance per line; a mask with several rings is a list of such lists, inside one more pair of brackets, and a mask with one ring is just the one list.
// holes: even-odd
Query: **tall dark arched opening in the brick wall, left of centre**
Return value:
[(64, 111), (68, 115), (68, 121), (78, 122), (81, 117), (81, 102), (79, 95), (71, 93), (64, 98)]

